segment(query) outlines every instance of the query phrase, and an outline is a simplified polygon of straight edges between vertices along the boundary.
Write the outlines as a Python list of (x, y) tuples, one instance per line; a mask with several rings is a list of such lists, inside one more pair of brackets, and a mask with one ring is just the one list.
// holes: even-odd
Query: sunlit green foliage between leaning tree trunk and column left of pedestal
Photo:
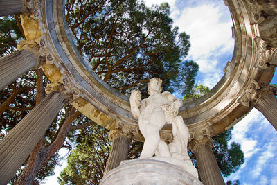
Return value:
[(107, 130), (94, 123), (75, 136), (77, 145), (60, 174), (60, 184), (98, 184), (111, 148)]

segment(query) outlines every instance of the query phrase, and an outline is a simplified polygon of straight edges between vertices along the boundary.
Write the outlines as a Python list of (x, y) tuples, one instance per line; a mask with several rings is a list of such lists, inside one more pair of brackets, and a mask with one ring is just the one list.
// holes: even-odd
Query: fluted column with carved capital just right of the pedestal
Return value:
[(222, 185), (224, 179), (213, 155), (213, 139), (204, 134), (195, 134), (190, 147), (195, 153), (201, 181), (204, 185)]

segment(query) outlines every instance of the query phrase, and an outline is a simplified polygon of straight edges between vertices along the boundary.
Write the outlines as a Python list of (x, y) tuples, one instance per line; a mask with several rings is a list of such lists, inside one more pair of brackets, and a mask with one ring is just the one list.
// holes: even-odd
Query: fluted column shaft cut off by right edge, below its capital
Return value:
[(258, 109), (267, 118), (269, 123), (277, 130), (277, 98), (274, 94), (265, 94), (261, 96), (256, 104)]

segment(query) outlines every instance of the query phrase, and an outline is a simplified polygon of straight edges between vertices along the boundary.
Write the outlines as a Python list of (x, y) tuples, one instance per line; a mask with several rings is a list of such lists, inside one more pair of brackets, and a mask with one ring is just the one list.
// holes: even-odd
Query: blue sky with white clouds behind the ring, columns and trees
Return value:
[[(148, 0), (146, 5), (163, 3), (164, 0)], [(168, 0), (171, 17), (179, 31), (190, 35), (191, 48), (188, 59), (199, 64), (196, 83), (210, 88), (224, 75), (226, 62), (233, 55), (233, 26), (228, 8), (223, 0)], [(271, 83), (277, 83), (277, 76)], [(240, 184), (277, 184), (277, 132), (270, 123), (253, 109), (233, 128), (232, 141), (240, 143), (244, 151), (244, 164), (227, 180)], [(65, 164), (66, 162), (64, 162)], [(57, 184), (57, 168), (54, 177), (48, 177), (46, 184)]]

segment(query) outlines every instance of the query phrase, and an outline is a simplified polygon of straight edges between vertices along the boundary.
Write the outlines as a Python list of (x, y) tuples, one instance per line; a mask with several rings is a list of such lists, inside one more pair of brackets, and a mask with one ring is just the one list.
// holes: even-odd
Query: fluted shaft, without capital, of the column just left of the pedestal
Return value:
[(131, 139), (127, 136), (118, 136), (114, 139), (104, 175), (111, 169), (118, 167), (121, 161), (127, 159), (130, 142)]

